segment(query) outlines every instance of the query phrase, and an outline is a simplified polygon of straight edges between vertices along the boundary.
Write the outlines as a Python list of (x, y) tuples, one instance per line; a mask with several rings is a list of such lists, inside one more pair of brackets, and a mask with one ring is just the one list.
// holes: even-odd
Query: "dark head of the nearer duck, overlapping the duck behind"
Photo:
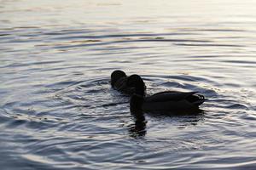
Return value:
[(135, 94), (144, 96), (146, 91), (145, 83), (143, 82), (142, 77), (134, 74), (128, 77), (127, 86), (135, 88)]

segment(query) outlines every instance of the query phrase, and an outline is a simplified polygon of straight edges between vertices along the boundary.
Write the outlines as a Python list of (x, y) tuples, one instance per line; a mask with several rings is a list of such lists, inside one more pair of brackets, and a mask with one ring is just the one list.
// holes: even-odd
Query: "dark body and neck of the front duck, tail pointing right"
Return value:
[(198, 111), (199, 106), (206, 100), (198, 92), (164, 91), (157, 94), (145, 96), (142, 82), (137, 85), (127, 82), (135, 87), (135, 93), (130, 99), (131, 112), (183, 112)]

